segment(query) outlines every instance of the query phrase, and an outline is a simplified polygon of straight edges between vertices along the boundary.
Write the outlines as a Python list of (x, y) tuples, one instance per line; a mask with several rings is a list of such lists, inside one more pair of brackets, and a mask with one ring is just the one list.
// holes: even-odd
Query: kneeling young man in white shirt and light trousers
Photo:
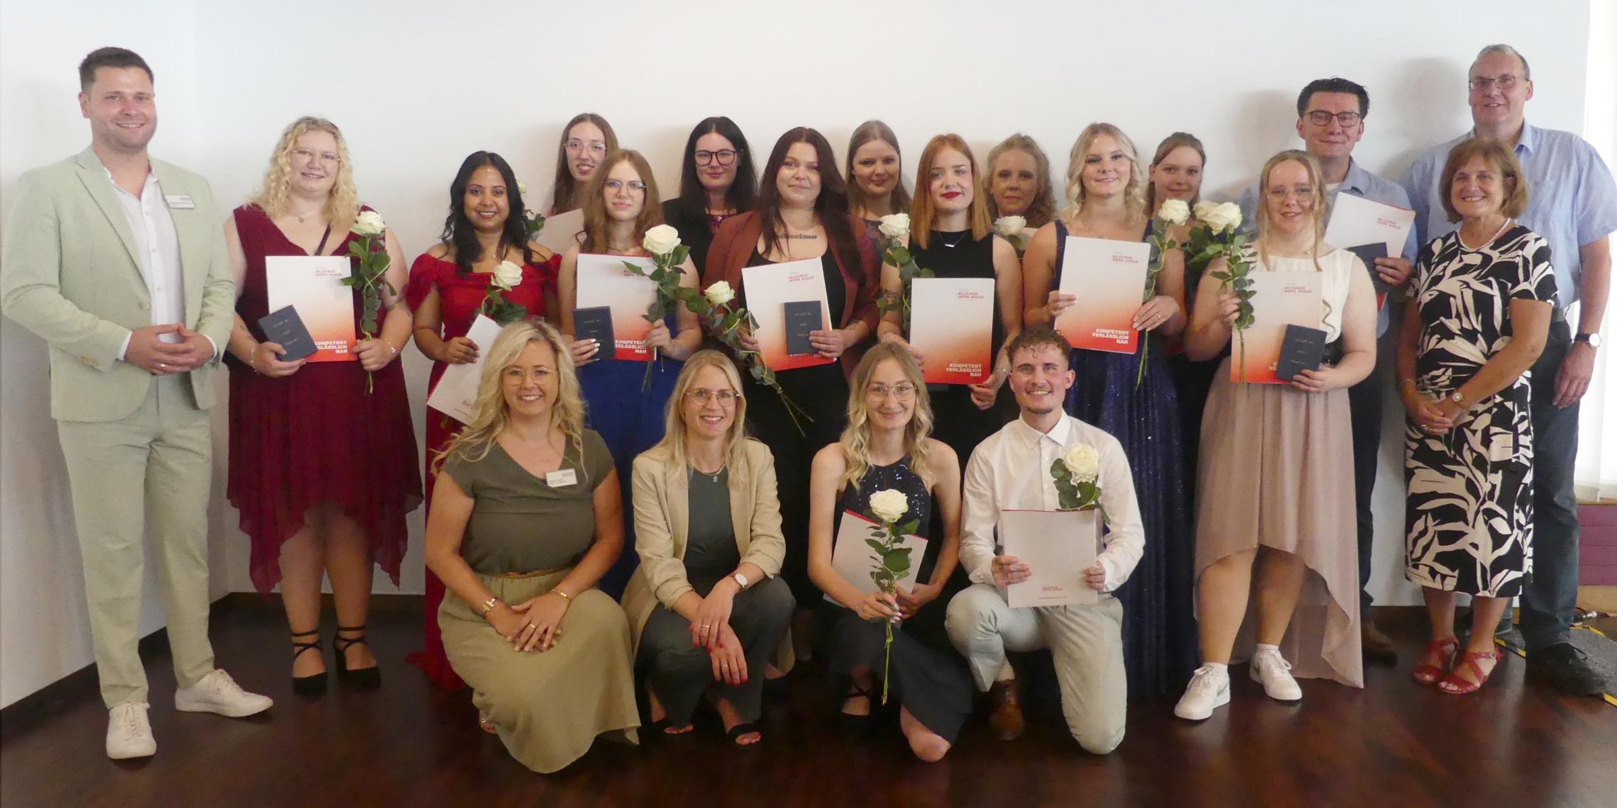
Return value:
[[(1122, 742), (1129, 698), (1122, 604), (1109, 593), (1129, 580), (1145, 548), (1134, 477), (1116, 438), (1061, 409), (1074, 380), (1067, 341), (1036, 328), (1022, 331), (1006, 347), (1020, 417), (980, 443), (965, 467), (960, 564), (972, 587), (949, 601), (949, 638), (970, 663), (978, 690), (991, 693), (990, 724), (1004, 740), (1024, 729), (1006, 651), (1049, 648), (1067, 729), (1085, 750), (1106, 755)], [(1104, 549), (1083, 570), (1085, 583), (1101, 593), (1100, 600), (1011, 608), (1006, 587), (1027, 580), (1033, 570), (1015, 556), (996, 554), (999, 512), (1058, 511), (1061, 498), (1051, 465), (1080, 443), (1100, 457), (1100, 506), (1109, 520)], [(1075, 553), (1083, 551), (1082, 541), (1083, 537), (1072, 537)]]

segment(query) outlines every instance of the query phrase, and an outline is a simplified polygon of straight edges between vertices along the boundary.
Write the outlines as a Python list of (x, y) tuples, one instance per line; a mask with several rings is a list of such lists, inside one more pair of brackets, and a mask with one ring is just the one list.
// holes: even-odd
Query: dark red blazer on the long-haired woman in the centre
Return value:
[[(849, 373), (865, 356), (865, 343), (876, 335), (876, 297), (881, 296), (881, 260), (875, 247), (865, 238), (865, 223), (847, 217), (847, 226), (854, 233), (855, 255), (842, 255), (831, 242), (831, 259), (842, 273), (842, 286), (847, 289), (842, 302), (838, 328), (847, 328), (855, 322), (865, 323), (868, 336), (857, 347), (851, 346), (842, 352), (842, 368)], [(702, 288), (718, 281), (728, 281), (733, 289), (741, 291), (741, 270), (758, 247), (758, 236), (763, 234), (763, 223), (757, 210), (737, 213), (724, 220), (713, 234), (713, 246), (708, 247), (707, 267), (702, 268)]]

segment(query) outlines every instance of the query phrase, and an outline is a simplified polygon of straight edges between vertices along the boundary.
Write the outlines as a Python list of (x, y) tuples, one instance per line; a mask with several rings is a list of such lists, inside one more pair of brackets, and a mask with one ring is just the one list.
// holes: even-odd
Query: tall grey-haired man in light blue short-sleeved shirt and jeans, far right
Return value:
[[(1510, 45), (1488, 45), (1467, 81), (1471, 131), (1428, 149), (1404, 178), (1415, 199), (1421, 244), (1457, 228), (1438, 199), (1449, 150), (1471, 134), (1515, 145), (1526, 171), (1528, 204), (1522, 225), (1549, 241), (1556, 270), (1556, 312), (1549, 343), (1533, 364), (1533, 575), (1522, 595), (1522, 640), (1528, 671), (1547, 675), (1577, 695), (1601, 693), (1601, 677), (1568, 642), (1578, 603), (1578, 498), (1572, 470), (1578, 456), (1578, 399), (1594, 373), (1601, 320), (1611, 291), (1611, 247), (1617, 229), (1617, 186), (1585, 139), (1528, 126), (1533, 73)], [(1578, 331), (1567, 309), (1581, 301)], [(1510, 612), (1499, 635), (1510, 629)]]

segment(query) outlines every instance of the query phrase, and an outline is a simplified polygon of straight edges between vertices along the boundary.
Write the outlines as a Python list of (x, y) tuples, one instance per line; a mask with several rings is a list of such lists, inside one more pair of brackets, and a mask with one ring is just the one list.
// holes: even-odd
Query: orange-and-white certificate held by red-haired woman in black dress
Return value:
[(910, 281), (910, 346), (933, 385), (975, 385), (994, 368), (994, 280)]

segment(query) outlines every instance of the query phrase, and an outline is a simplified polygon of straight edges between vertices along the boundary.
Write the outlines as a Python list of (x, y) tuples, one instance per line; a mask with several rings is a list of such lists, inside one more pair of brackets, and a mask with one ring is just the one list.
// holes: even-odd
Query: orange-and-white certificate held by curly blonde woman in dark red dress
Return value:
[(348, 255), (265, 255), (264, 278), (270, 310), (291, 305), (314, 339), (309, 362), (353, 362), (354, 289)]

